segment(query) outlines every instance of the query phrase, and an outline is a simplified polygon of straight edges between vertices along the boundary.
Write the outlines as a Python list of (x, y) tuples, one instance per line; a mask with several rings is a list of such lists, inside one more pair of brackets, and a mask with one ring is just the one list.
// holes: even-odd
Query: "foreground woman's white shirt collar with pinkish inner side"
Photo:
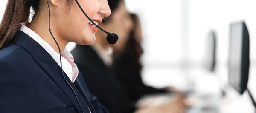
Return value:
[[(55, 60), (55, 62), (58, 63), (59, 66), (61, 66), (60, 63), (60, 54), (58, 54), (54, 49), (44, 41), (38, 34), (36, 34), (34, 31), (32, 31), (30, 28), (26, 27), (21, 23), (20, 26), (20, 31), (23, 31), (29, 37), (32, 37), (38, 44), (40, 44)], [(61, 62), (62, 62), (62, 68), (63, 71), (67, 74), (69, 79), (74, 83), (76, 80), (76, 77), (78, 76), (78, 69), (76, 64), (74, 63), (73, 56), (71, 55), (70, 51), (68, 51), (66, 48), (63, 51), (62, 57), (61, 57)]]

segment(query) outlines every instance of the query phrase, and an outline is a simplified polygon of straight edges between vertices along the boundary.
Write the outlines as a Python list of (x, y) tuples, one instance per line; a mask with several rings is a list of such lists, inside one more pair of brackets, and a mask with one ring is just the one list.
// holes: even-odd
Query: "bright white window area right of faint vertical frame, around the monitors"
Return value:
[[(229, 24), (245, 20), (250, 32), (251, 58), (256, 59), (255, 0), (189, 0), (189, 57), (200, 62), (204, 53), (204, 38), (210, 29), (217, 31), (218, 60), (228, 58)], [(254, 32), (253, 32), (254, 31)]]

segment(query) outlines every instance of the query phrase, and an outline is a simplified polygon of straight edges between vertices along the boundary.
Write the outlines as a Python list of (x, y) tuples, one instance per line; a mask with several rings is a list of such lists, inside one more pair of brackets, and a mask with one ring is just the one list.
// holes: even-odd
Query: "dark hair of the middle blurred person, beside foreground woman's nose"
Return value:
[[(124, 0), (108, 0), (108, 5), (109, 5), (111, 13), (116, 11), (116, 9), (118, 8), (118, 6), (120, 5), (121, 2), (124, 2)], [(103, 19), (102, 23), (108, 22), (111, 18), (111, 15), (109, 17), (105, 17)]]

